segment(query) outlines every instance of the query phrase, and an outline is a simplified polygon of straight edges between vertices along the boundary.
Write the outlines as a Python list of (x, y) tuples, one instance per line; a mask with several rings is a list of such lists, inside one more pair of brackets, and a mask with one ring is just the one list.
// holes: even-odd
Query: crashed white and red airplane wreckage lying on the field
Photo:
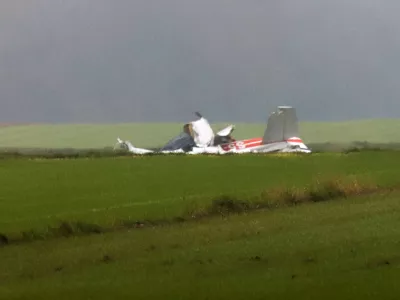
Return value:
[(299, 137), (296, 109), (291, 106), (278, 106), (277, 111), (268, 118), (263, 137), (244, 140), (235, 140), (232, 137), (234, 125), (229, 125), (214, 134), (207, 119), (198, 112), (195, 115), (197, 117), (195, 121), (185, 124), (182, 133), (158, 150), (137, 148), (130, 141), (120, 138), (117, 139), (116, 147), (126, 149), (133, 154), (311, 153)]

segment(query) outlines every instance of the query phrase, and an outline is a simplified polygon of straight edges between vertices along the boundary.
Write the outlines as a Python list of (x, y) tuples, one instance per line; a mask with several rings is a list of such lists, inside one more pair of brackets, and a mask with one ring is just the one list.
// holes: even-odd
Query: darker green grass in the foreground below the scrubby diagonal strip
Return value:
[(398, 194), (1, 250), (4, 299), (395, 299)]

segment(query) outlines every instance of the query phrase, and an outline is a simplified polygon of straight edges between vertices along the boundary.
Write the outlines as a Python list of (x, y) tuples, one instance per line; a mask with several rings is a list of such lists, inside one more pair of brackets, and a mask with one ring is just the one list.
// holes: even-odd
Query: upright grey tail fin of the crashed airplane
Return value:
[(299, 136), (299, 124), (296, 109), (291, 106), (278, 106), (267, 123), (262, 143), (287, 141), (290, 138)]

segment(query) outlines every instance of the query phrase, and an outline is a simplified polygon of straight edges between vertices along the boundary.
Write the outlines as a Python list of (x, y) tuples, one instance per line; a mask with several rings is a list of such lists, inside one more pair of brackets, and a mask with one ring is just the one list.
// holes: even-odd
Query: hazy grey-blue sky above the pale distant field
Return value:
[(0, 122), (400, 117), (398, 0), (1, 0)]

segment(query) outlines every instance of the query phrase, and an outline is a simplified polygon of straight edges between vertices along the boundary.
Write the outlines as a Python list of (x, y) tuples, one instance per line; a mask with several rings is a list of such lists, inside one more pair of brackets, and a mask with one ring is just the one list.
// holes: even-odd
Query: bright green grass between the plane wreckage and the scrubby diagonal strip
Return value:
[(111, 226), (121, 220), (169, 218), (216, 196), (252, 197), (321, 176), (358, 175), (389, 185), (397, 182), (399, 155), (0, 160), (0, 232), (16, 234), (65, 220)]

